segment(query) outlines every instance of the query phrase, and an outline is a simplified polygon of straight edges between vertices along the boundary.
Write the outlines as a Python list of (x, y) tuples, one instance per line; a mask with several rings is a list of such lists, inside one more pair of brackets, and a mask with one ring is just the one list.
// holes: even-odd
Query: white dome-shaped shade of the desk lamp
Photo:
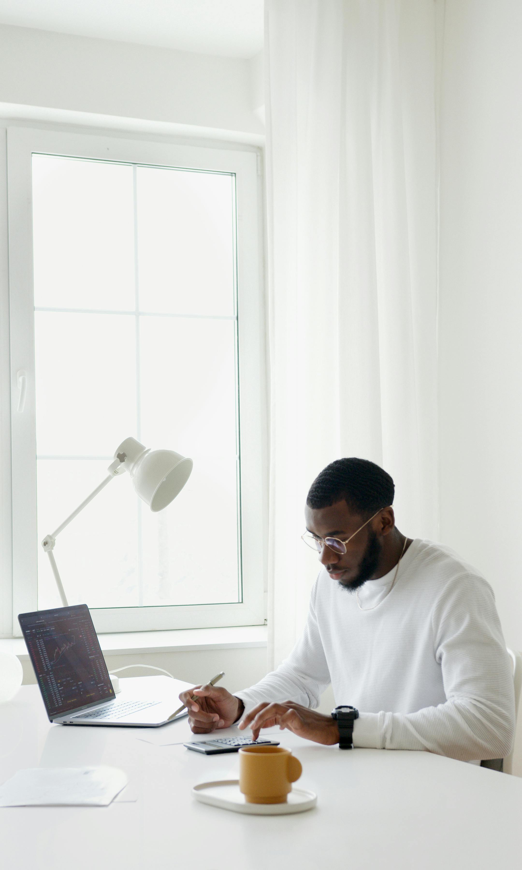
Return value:
[(125, 438), (114, 454), (131, 475), (132, 485), (151, 511), (163, 511), (191, 476), (192, 460), (173, 450), (147, 450)]

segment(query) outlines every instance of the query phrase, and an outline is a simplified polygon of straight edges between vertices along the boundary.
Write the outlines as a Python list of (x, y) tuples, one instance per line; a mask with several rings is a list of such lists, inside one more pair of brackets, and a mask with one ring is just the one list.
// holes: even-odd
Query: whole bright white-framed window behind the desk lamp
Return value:
[[(8, 133), (13, 609), (129, 435), (190, 456), (163, 512), (116, 478), (57, 538), (98, 631), (264, 621), (257, 155)], [(16, 626), (14, 620), (13, 625)]]

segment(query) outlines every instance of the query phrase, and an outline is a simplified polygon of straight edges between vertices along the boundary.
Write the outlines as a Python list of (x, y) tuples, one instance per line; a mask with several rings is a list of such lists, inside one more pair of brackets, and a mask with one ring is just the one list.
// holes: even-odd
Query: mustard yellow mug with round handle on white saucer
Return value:
[(301, 773), (301, 762), (282, 746), (239, 750), (239, 791), (247, 804), (285, 804)]

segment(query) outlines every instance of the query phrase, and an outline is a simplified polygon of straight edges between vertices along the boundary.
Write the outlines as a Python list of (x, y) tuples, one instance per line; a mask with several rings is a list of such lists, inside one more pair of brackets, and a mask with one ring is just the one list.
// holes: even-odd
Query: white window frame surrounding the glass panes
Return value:
[[(236, 178), (238, 276), (238, 403), (241, 457), (243, 602), (223, 605), (93, 608), (98, 632), (262, 625), (266, 565), (266, 405), (262, 196), (258, 151), (209, 144), (157, 142), (90, 132), (7, 128), (7, 212), (10, 293), (10, 442), (12, 484), (12, 633), (17, 614), (37, 609), (37, 477), (32, 268), (31, 159), (33, 153), (231, 172)], [(18, 411), (18, 372), (26, 373)], [(130, 432), (122, 432), (122, 438)], [(111, 452), (116, 445), (107, 445)], [(169, 446), (169, 445), (164, 445)], [(174, 445), (175, 447), (175, 445)], [(117, 481), (114, 485), (129, 485)], [(78, 504), (88, 493), (78, 492)], [(65, 518), (64, 518), (65, 519)], [(81, 517), (75, 520), (81, 523)], [(7, 526), (7, 520), (4, 526)], [(66, 534), (66, 532), (64, 532)], [(3, 530), (6, 536), (6, 530)], [(58, 568), (60, 547), (55, 551)], [(64, 579), (66, 588), (67, 578)], [(7, 594), (7, 593), (5, 593)], [(5, 599), (5, 595), (4, 595)], [(87, 602), (88, 603), (88, 602)]]

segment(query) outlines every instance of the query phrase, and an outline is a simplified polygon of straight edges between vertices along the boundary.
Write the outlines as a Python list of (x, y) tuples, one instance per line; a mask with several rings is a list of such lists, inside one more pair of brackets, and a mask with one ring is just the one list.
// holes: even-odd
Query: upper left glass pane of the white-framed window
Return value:
[(133, 311), (132, 167), (33, 155), (35, 305)]

